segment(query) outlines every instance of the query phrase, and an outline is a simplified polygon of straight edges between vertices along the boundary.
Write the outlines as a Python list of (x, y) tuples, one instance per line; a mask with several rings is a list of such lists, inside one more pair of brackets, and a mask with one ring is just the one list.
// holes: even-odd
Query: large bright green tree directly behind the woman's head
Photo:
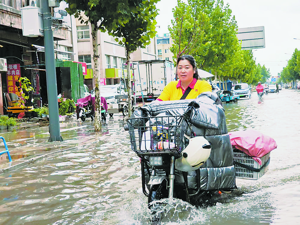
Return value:
[(171, 48), (174, 56), (178, 59), (180, 54), (192, 54), (197, 67), (214, 70), (216, 79), (217, 73), (223, 71), (222, 64), (230, 64), (240, 48), (229, 5), (224, 6), (223, 0), (188, 0), (188, 4), (178, 1), (173, 13), (176, 20), (169, 31), (175, 40)]

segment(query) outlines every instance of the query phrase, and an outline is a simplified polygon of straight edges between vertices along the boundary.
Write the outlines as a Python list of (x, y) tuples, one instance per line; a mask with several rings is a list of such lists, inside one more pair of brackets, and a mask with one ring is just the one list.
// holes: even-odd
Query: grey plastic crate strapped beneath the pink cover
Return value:
[(262, 165), (259, 165), (258, 162), (244, 152), (233, 152), (233, 160), (237, 163), (241, 163), (255, 169), (260, 169), (265, 165), (259, 172), (255, 172), (235, 163), (235, 177), (250, 180), (257, 180), (262, 177), (262, 175), (264, 175), (269, 169), (270, 153), (264, 155), (260, 159), (262, 160)]

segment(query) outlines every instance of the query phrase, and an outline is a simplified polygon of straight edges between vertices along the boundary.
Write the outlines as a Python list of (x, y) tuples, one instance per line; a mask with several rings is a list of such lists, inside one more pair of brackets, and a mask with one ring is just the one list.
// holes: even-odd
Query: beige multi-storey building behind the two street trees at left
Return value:
[[(87, 19), (87, 18), (86, 18)], [(87, 68), (93, 69), (92, 63), (92, 36), (90, 24), (81, 24), (79, 20), (76, 20), (77, 30), (77, 46), (78, 46), (78, 60), (80, 62), (86, 62)], [(126, 48), (110, 36), (107, 32), (98, 31), (98, 52), (100, 55), (100, 78), (103, 84), (118, 84), (124, 77), (127, 78), (127, 70), (122, 69), (122, 64), (126, 63)], [(146, 47), (139, 47), (135, 52), (130, 54), (130, 60), (153, 60), (157, 59), (156, 54), (156, 40)], [(123, 65), (126, 67), (125, 65)], [(132, 73), (132, 71), (131, 71)], [(90, 77), (86, 77), (85, 83), (88, 87), (93, 87), (92, 73)], [(105, 83), (104, 83), (105, 82)]]

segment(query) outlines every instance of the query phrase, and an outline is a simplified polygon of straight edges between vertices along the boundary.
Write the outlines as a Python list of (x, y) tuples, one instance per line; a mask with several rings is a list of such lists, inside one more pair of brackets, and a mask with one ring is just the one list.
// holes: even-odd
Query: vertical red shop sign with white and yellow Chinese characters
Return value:
[[(21, 96), (21, 90), (16, 85), (16, 81), (19, 81), (21, 77), (20, 64), (8, 64), (6, 72), (6, 81), (7, 81), (7, 92), (15, 93), (17, 96)], [(21, 84), (20, 84), (21, 85)]]

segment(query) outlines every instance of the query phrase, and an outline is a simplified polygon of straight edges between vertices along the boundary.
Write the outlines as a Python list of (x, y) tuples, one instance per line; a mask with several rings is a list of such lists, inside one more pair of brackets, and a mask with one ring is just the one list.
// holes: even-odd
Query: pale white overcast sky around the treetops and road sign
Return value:
[[(277, 76), (295, 48), (300, 50), (300, 1), (224, 0), (226, 3), (229, 3), (238, 28), (265, 27), (265, 48), (253, 50), (253, 56), (256, 63), (270, 69), (271, 76)], [(157, 3), (160, 11), (156, 21), (160, 34), (168, 33), (168, 25), (173, 18), (172, 8), (176, 5), (177, 0)]]

